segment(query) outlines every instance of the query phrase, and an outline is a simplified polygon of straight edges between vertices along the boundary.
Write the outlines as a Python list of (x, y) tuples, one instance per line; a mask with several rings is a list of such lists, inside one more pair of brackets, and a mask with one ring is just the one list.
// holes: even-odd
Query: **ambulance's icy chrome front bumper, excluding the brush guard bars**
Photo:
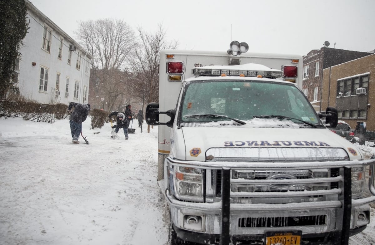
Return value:
[[(171, 212), (171, 220), (174, 224), (177, 235), (190, 242), (198, 242), (201, 244), (213, 244), (219, 241), (221, 236), (221, 210), (222, 203), (189, 203), (179, 201), (166, 191), (166, 198), (168, 200)], [(341, 202), (330, 201), (325, 204), (322, 203), (309, 203), (309, 208), (306, 204), (296, 204), (288, 208), (285, 205), (244, 205), (244, 204), (231, 204), (230, 206), (230, 230), (229, 234), (231, 241), (252, 241), (263, 242), (264, 233), (266, 231), (282, 231), (298, 229), (302, 231), (302, 239), (309, 240), (310, 244), (314, 241), (325, 244), (330, 244), (331, 241), (339, 241), (341, 231), (335, 230), (336, 220), (326, 220), (323, 224), (318, 220), (319, 217), (336, 217), (337, 209), (341, 208)], [(351, 222), (350, 235), (355, 235), (366, 228), (365, 224), (356, 224), (356, 214), (359, 212), (368, 212), (369, 206), (353, 206), (351, 209)], [(311, 219), (318, 217), (314, 220), (317, 224), (310, 226), (281, 226), (280, 224), (271, 224), (273, 227), (256, 227), (257, 225), (250, 225), (253, 227), (244, 227), (240, 225), (240, 220), (244, 218), (256, 222), (258, 226), (262, 226), (262, 219), (268, 218), (270, 222), (281, 222), (282, 219), (278, 217), (301, 217), (308, 215)], [(194, 227), (196, 230), (189, 230), (189, 225), (186, 223), (185, 218), (188, 216), (201, 217), (201, 228)], [(274, 217), (274, 218), (272, 218)], [(264, 221), (266, 223), (267, 221)], [(284, 222), (288, 222), (286, 219)], [(301, 221), (305, 223), (306, 220)], [(246, 225), (245, 225), (246, 226)], [(200, 229), (200, 230), (199, 230)], [(199, 231), (198, 231), (199, 230)], [(335, 243), (332, 243), (335, 244)], [(339, 243), (341, 244), (341, 242)]]

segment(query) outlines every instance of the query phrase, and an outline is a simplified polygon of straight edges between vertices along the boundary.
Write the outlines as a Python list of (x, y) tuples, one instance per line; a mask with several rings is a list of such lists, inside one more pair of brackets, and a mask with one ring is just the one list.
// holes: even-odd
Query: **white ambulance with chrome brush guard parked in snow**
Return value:
[(347, 244), (370, 219), (374, 159), (328, 130), (302, 93), (302, 57), (160, 52), (158, 181), (171, 244)]

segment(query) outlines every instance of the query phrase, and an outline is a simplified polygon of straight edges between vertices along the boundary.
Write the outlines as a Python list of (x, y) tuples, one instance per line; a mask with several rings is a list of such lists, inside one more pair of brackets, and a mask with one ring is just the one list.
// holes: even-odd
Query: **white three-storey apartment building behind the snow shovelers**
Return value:
[(25, 1), (30, 23), (13, 83), (22, 96), (39, 103), (87, 103), (93, 57)]

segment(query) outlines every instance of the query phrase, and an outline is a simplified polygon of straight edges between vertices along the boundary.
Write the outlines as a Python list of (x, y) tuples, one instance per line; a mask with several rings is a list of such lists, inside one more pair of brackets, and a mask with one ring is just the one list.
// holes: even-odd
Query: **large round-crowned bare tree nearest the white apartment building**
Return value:
[[(105, 98), (109, 111), (118, 109), (129, 100), (126, 76), (121, 70), (126, 69), (137, 46), (137, 38), (132, 28), (123, 20), (98, 19), (81, 21), (75, 32), (81, 45), (94, 57), (92, 73), (96, 83), (90, 97)], [(99, 86), (99, 88), (98, 88)], [(99, 108), (98, 105), (96, 107)]]

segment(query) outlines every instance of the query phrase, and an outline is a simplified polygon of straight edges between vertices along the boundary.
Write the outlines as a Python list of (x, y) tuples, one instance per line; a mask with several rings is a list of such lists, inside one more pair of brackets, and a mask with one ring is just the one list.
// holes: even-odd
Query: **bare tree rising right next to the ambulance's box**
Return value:
[(132, 93), (144, 102), (150, 103), (159, 99), (159, 61), (160, 50), (175, 49), (177, 41), (168, 42), (161, 24), (154, 33), (146, 33), (138, 27), (139, 48), (135, 50), (132, 60), (132, 76), (130, 76)]

